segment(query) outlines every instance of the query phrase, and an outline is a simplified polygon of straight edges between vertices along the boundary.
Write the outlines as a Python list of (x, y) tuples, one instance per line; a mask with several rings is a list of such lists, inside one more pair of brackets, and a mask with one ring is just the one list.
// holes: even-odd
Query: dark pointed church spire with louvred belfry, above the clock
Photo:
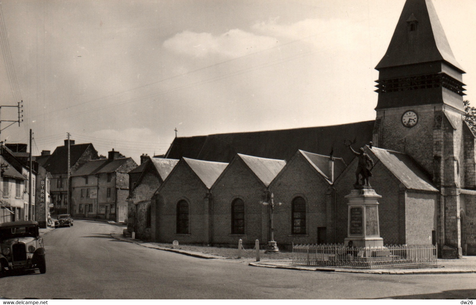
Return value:
[(464, 112), (463, 76), (431, 0), (407, 0), (377, 67), (378, 109), (446, 104)]

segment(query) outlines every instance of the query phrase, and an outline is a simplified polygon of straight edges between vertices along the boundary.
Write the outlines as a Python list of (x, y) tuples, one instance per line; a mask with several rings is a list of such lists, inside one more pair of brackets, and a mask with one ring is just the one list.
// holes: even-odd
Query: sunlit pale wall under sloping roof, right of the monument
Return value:
[(432, 231), (436, 230), (438, 193), (407, 190), (405, 199), (405, 243), (431, 244)]

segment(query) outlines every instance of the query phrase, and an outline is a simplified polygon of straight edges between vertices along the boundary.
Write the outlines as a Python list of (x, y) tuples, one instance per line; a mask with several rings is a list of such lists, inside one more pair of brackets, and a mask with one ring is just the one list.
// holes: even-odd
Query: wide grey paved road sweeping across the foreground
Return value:
[(269, 269), (149, 249), (109, 236), (122, 227), (76, 220), (44, 236), (47, 272), (0, 278), (22, 299), (475, 298), (476, 274), (368, 275)]

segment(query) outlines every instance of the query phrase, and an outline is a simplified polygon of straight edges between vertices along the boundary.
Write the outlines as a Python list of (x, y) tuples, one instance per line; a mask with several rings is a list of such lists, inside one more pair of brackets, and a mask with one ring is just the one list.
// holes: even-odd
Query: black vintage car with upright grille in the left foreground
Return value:
[(0, 224), (0, 273), (17, 269), (40, 269), (46, 272), (43, 238), (34, 220)]

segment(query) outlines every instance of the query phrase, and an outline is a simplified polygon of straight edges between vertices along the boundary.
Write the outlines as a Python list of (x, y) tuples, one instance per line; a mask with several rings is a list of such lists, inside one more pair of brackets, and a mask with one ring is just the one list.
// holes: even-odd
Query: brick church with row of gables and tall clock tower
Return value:
[[(475, 135), (465, 121), (465, 73), (431, 0), (407, 0), (378, 62), (375, 121), (175, 138), (178, 159), (151, 199), (159, 242), (342, 243), (357, 159), (374, 161), (385, 244), (434, 244), (476, 255)], [(368, 111), (372, 111), (368, 109)], [(272, 194), (272, 195), (271, 195)], [(263, 205), (270, 197), (276, 207)], [(274, 227), (270, 225), (270, 209)]]

